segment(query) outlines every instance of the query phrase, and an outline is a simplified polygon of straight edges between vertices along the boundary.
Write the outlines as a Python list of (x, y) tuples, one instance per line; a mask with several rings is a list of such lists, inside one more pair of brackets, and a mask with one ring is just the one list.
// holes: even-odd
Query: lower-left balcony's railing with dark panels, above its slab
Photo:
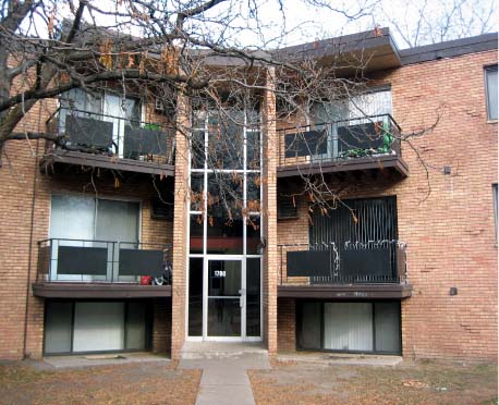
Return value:
[(50, 238), (38, 242), (37, 282), (171, 283), (171, 245)]

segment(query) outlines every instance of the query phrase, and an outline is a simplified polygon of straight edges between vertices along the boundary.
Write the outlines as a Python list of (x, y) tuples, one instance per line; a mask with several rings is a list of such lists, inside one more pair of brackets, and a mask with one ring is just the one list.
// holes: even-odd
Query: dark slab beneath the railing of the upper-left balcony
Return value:
[(60, 165), (78, 165), (89, 168), (111, 169), (135, 173), (159, 174), (165, 176), (174, 175), (172, 164), (161, 164), (133, 159), (120, 159), (115, 156), (93, 155), (78, 151), (54, 149), (40, 160), (42, 171), (57, 170)]

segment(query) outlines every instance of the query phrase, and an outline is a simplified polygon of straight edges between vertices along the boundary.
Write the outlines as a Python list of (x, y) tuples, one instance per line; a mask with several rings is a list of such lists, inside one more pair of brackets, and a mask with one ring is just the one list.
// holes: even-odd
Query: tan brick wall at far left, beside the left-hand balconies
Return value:
[[(45, 124), (53, 103), (35, 106), (17, 131), (37, 130)], [(47, 236), (47, 218), (34, 191), (42, 183), (34, 156), (41, 150), (41, 142), (11, 142), (4, 146), (0, 168), (0, 358), (23, 357), (26, 291), (36, 277), (36, 241)], [(38, 145), (38, 147), (37, 147)], [(34, 187), (35, 173), (38, 177)], [(37, 193), (35, 191), (35, 193)], [(32, 212), (36, 219), (32, 229)], [(32, 236), (33, 231), (33, 236)], [(33, 244), (31, 246), (31, 241)], [(29, 246), (32, 255), (29, 256)], [(28, 280), (28, 269), (31, 275)], [(42, 300), (28, 296), (26, 341), (27, 353), (41, 353)]]

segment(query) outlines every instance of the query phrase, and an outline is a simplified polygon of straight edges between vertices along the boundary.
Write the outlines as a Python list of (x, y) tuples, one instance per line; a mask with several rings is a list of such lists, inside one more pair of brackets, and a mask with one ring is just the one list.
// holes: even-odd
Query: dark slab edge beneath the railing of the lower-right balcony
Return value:
[(277, 287), (279, 298), (404, 299), (412, 295), (411, 284), (287, 284)]

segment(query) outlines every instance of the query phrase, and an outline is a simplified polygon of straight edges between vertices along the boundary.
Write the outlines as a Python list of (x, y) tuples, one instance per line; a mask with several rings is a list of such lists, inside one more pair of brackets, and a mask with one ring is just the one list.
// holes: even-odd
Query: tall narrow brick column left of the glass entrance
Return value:
[(177, 103), (175, 136), (175, 210), (173, 218), (173, 284), (171, 310), (171, 357), (180, 358), (185, 341), (186, 257), (187, 257), (187, 192), (188, 192), (188, 99), (180, 94)]

